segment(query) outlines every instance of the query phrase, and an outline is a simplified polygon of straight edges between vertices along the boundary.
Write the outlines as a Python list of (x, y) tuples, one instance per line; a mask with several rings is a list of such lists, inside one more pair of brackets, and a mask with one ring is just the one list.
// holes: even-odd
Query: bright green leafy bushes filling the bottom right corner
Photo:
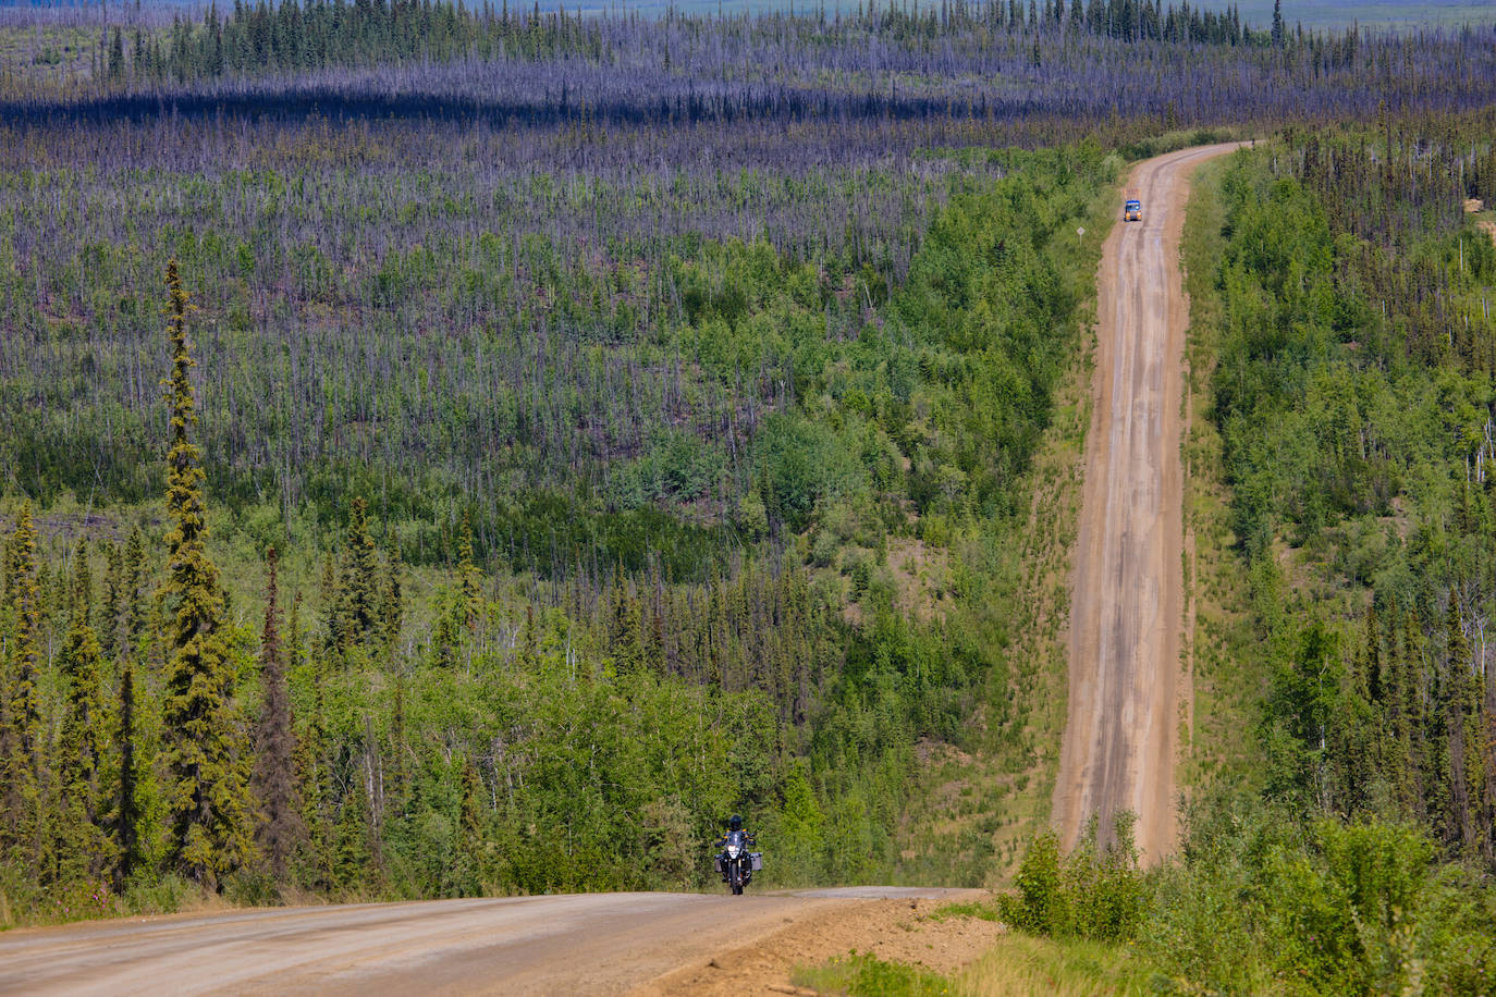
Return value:
[(1302, 827), (1213, 797), (1191, 809), (1141, 942), (1177, 993), (1481, 994), (1493, 915), (1489, 886), (1441, 867), (1414, 827)]

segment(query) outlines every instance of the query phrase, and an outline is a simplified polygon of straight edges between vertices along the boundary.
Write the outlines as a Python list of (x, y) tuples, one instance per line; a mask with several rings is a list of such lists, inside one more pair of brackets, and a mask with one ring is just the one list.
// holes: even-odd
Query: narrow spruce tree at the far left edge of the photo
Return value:
[(42, 589), (36, 571), (31, 504), (21, 507), (9, 546), (10, 626), (13, 637), (0, 686), (0, 858), (13, 858), (39, 873), (42, 858), (39, 752), (42, 716), (36, 679), (40, 671)]

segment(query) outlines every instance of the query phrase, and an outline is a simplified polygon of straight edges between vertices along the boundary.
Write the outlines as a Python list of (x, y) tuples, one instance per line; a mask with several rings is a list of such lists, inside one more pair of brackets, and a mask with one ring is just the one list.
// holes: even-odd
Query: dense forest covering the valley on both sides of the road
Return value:
[[(1309, 913), (1272, 897), (1397, 855), (1439, 925), (1408, 951), (1453, 991), (1490, 966), (1490, 27), (287, 1), (0, 34), (0, 924), (705, 886), (730, 810), (782, 883), (992, 880), (1007, 815), (901, 840), (920, 752), (1032, 762), (1005, 596), (1115, 184), (1233, 127), (1273, 136), (1219, 185), (1212, 413), (1267, 764), (1146, 882), (1035, 849), (1025, 901), (1046, 862), (1121, 885), (1014, 922), (1364, 990), (1333, 973), (1402, 936), (1275, 955)], [(1258, 906), (1200, 930), (1228, 894)]]

